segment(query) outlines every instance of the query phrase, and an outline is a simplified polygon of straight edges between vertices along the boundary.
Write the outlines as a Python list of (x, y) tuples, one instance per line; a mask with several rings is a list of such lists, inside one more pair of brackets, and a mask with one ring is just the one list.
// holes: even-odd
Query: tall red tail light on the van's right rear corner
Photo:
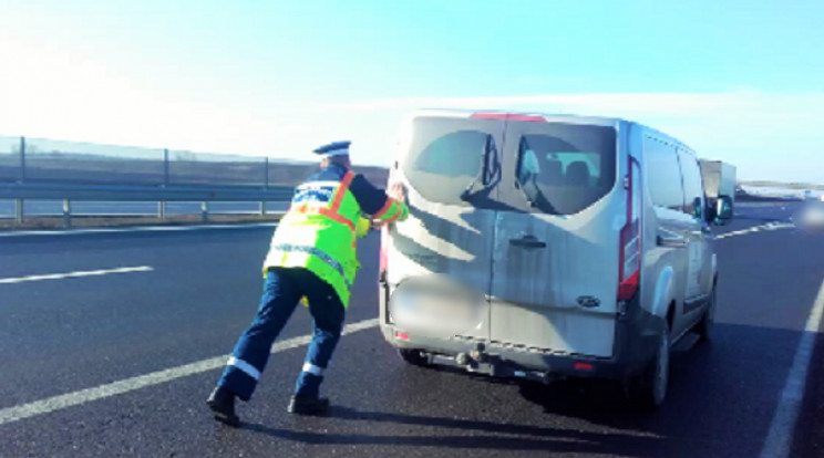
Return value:
[(640, 284), (641, 272), (641, 199), (640, 166), (630, 157), (627, 174), (627, 223), (620, 232), (618, 266), (618, 301), (632, 299)]

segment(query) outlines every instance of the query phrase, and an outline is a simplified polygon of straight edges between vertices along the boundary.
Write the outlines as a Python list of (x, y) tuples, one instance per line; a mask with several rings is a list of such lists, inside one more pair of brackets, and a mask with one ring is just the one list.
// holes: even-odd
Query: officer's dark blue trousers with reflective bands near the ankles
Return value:
[(272, 343), (302, 296), (309, 300), (315, 330), (295, 392), (318, 396), (323, 369), (340, 340), (344, 309), (329, 283), (298, 268), (269, 269), (255, 320), (237, 341), (218, 386), (249, 400), (266, 368)]

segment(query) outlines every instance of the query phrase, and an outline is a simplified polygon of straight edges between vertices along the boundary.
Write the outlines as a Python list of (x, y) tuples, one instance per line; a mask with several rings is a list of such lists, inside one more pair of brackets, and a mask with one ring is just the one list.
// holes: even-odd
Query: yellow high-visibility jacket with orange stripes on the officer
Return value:
[[(340, 181), (308, 181), (296, 189), (289, 211), (271, 239), (264, 275), (271, 267), (306, 268), (329, 283), (343, 306), (349, 305), (360, 263), (356, 256), (358, 221), (362, 211), (349, 185), (354, 174)], [(382, 220), (404, 219), (405, 204), (387, 199), (373, 215)]]

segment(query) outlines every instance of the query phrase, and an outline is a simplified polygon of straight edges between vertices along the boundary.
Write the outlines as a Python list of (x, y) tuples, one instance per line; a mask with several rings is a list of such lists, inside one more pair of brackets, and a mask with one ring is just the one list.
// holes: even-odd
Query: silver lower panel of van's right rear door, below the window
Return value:
[[(565, 353), (612, 353), (618, 238), (600, 207), (578, 218), (496, 218), (490, 339)], [(577, 221), (576, 221), (577, 219)], [(601, 231), (599, 228), (607, 228)], [(531, 237), (542, 248), (513, 244)], [(588, 306), (583, 305), (588, 301)], [(593, 306), (593, 303), (597, 305)]]

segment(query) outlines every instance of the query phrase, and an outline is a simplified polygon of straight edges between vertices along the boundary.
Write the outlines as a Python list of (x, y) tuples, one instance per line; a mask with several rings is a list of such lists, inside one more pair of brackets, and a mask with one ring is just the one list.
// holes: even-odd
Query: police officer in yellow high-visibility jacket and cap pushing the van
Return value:
[(409, 215), (401, 185), (391, 187), (387, 195), (350, 170), (349, 145), (337, 142), (315, 150), (322, 156), (321, 170), (297, 187), (289, 211), (272, 236), (257, 314), (206, 402), (220, 421), (239, 425), (235, 398), (251, 397), (271, 345), (301, 298), (308, 302), (315, 330), (288, 412), (318, 415), (329, 407), (319, 388), (340, 339), (360, 267), (356, 257), (360, 218), (367, 215), (375, 226), (382, 226)]

